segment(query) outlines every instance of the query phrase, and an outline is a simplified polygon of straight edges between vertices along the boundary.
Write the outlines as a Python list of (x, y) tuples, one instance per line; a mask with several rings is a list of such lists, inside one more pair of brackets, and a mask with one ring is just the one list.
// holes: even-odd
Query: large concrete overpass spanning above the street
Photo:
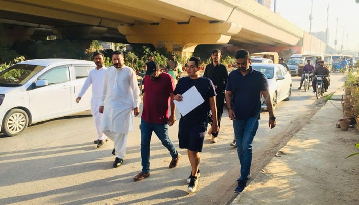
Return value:
[(169, 52), (193, 52), (199, 44), (275, 47), (310, 42), (312, 47), (313, 42), (303, 29), (254, 0), (0, 0), (0, 5), (7, 42), (52, 34), (70, 40), (150, 43)]

